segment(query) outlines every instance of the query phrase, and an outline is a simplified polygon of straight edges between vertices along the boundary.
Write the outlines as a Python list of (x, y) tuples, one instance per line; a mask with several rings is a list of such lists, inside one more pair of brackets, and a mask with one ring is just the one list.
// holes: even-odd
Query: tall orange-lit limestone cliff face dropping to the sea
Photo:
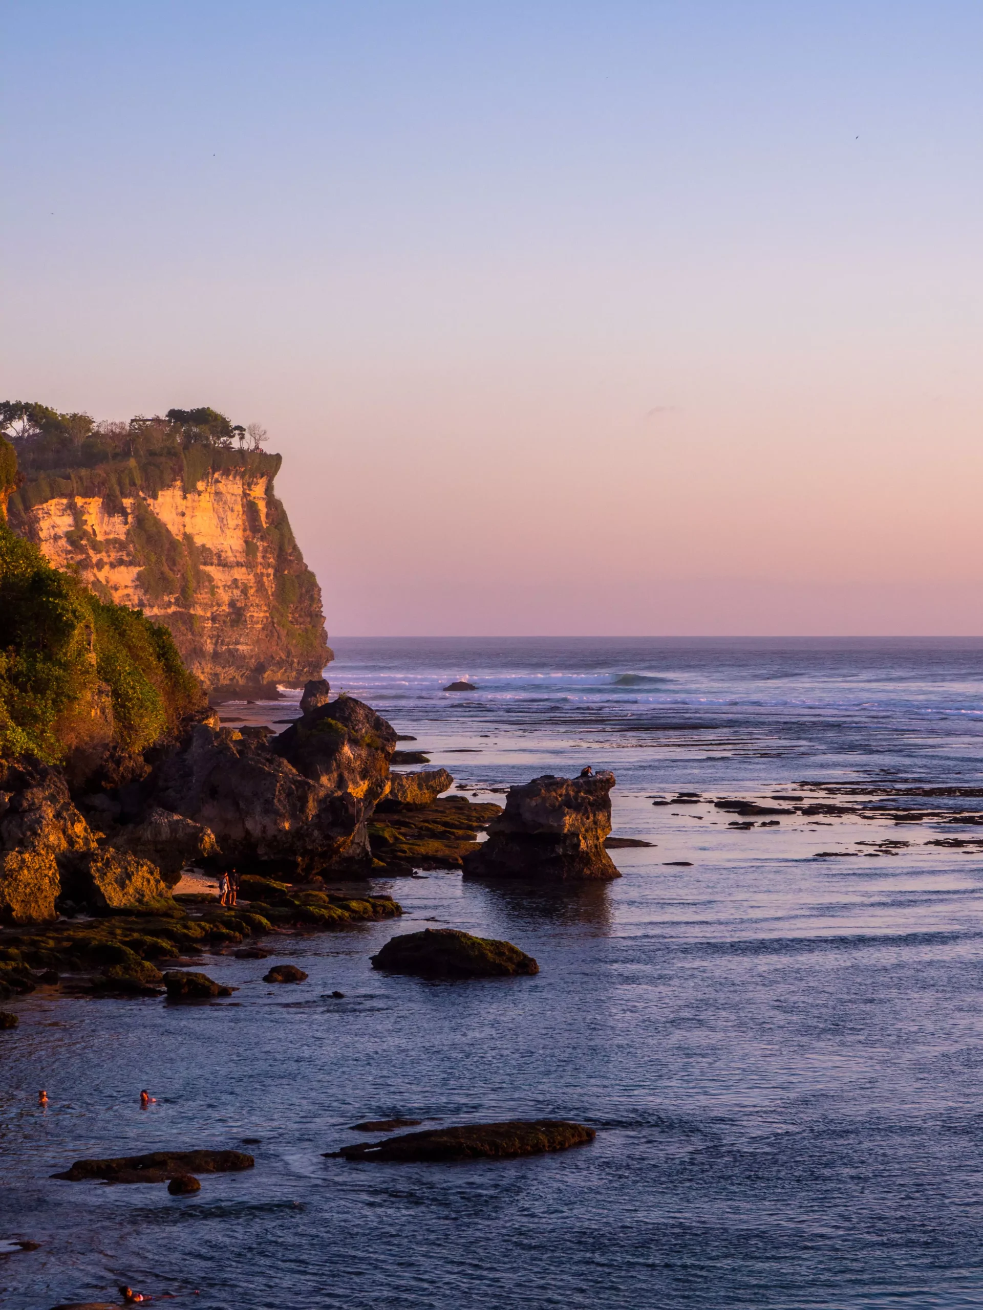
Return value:
[(208, 690), (298, 685), (332, 652), (320, 587), (273, 491), (279, 465), (172, 448), (30, 470), (9, 523), (102, 600), (166, 625)]

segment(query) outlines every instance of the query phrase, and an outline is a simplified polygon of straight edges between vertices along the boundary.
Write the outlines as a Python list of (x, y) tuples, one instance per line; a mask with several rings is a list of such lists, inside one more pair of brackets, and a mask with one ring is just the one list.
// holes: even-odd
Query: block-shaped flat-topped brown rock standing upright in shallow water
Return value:
[(578, 882), (620, 878), (604, 838), (611, 833), (613, 773), (579, 778), (544, 774), (510, 787), (488, 841), (464, 857), (472, 878)]

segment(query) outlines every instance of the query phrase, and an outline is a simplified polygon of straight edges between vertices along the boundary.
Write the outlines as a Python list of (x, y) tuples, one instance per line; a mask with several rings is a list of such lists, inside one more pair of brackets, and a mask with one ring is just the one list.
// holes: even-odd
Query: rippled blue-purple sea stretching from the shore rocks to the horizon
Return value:
[[(333, 685), (469, 793), (611, 768), (616, 833), (657, 845), (558, 895), (377, 882), (408, 917), (286, 939), (301, 986), (207, 959), (235, 1003), (20, 1002), (0, 1035), (0, 1237), (42, 1247), (0, 1263), (3, 1303), (126, 1281), (198, 1310), (983, 1305), (983, 858), (925, 845), (980, 829), (739, 832), (709, 803), (651, 804), (980, 782), (983, 642), (334, 645)], [(442, 690), (464, 676), (477, 692)], [(885, 838), (910, 845), (869, 845)], [(509, 938), (541, 972), (374, 973), (381, 942), (426, 924)], [(501, 1163), (321, 1157), (395, 1114), (564, 1116), (598, 1138)], [(253, 1136), (256, 1169), (190, 1199), (47, 1176)]]

